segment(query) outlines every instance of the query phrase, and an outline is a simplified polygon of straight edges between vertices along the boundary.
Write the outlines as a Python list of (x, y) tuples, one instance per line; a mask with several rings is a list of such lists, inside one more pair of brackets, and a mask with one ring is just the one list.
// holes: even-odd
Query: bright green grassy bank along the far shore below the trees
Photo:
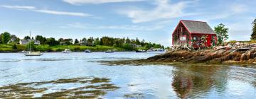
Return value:
[[(17, 49), (14, 50), (14, 45), (0, 45), (0, 52), (19, 52), (23, 50), (28, 50), (26, 45), (16, 45)], [(97, 45), (97, 46), (84, 46), (84, 45), (35, 45), (32, 49), (35, 51), (41, 52), (62, 52), (65, 49), (70, 49), (73, 52), (83, 52), (85, 50), (92, 50), (93, 52), (102, 52), (106, 50), (117, 50), (117, 51), (129, 51), (121, 47), (112, 47), (112, 46), (104, 46), (104, 45)], [(137, 49), (144, 50), (144, 47), (139, 47)]]

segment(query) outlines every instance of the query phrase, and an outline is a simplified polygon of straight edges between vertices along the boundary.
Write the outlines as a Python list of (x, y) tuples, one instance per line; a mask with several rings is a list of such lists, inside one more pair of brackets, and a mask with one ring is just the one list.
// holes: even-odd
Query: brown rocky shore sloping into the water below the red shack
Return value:
[(147, 59), (120, 60), (102, 62), (109, 65), (122, 64), (179, 64), (179, 65), (219, 65), (219, 64), (256, 64), (256, 49), (246, 51), (236, 50), (172, 50)]

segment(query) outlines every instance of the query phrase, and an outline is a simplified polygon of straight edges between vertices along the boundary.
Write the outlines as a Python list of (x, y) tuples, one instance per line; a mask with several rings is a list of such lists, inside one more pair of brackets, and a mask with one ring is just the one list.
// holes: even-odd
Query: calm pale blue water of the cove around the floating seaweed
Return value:
[[(107, 83), (119, 87), (101, 94), (101, 98), (256, 98), (253, 66), (104, 66), (97, 62), (142, 59), (156, 54), (161, 53), (45, 53), (41, 57), (0, 54), (0, 86), (92, 77), (109, 78)], [(47, 90), (33, 93), (33, 97), (78, 86), (45, 84)]]

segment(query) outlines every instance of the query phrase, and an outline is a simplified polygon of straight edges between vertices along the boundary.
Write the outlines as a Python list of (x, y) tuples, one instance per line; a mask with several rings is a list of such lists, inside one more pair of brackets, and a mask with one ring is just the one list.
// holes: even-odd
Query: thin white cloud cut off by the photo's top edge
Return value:
[(131, 2), (131, 1), (144, 1), (144, 0), (63, 0), (69, 4), (105, 4), (105, 3), (118, 3), (118, 2)]

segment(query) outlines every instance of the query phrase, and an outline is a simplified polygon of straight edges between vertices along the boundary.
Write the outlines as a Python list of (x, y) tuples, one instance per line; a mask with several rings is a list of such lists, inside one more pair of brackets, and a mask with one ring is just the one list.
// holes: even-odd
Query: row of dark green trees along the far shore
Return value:
[[(113, 47), (121, 47), (126, 50), (135, 50), (137, 47), (143, 47), (144, 49), (149, 49), (151, 47), (154, 48), (164, 48), (163, 45), (155, 44), (151, 42), (145, 42), (145, 40), (129, 39), (129, 37), (123, 38), (115, 38), (115, 37), (83, 37), (81, 40), (71, 39), (71, 38), (59, 38), (56, 40), (54, 37), (43, 37), (42, 35), (36, 35), (36, 37), (23, 37), (23, 40), (38, 40), (41, 45), (86, 45), (86, 46), (97, 46), (97, 45), (105, 45), (105, 46), (113, 46)], [(4, 32), (0, 34), (0, 44), (19, 44), (20, 38), (16, 37), (16, 35), (11, 35), (8, 32)]]

